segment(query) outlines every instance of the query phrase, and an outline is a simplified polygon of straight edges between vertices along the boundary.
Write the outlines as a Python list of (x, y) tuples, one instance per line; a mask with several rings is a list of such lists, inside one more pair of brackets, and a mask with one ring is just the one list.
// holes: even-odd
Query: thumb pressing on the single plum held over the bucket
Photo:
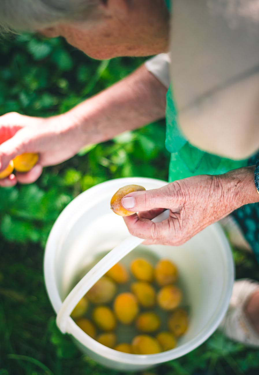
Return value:
[(171, 191), (174, 190), (171, 185), (129, 193), (122, 198), (121, 204), (126, 210), (133, 212), (148, 211), (153, 208), (170, 208), (176, 203), (176, 196)]

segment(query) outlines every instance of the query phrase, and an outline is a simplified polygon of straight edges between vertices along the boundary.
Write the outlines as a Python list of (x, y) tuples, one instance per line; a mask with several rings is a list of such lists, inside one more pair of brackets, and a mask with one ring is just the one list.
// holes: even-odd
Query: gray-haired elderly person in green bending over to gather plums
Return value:
[[(60, 35), (94, 58), (154, 55), (170, 49), (173, 82), (166, 103), (164, 60), (158, 57), (68, 113), (50, 118), (3, 115), (1, 170), (24, 152), (39, 153), (39, 162), (27, 173), (2, 180), (1, 186), (31, 183), (43, 166), (166, 113), (173, 182), (123, 198), (125, 208), (140, 211), (125, 218), (132, 234), (147, 243), (179, 245), (239, 207), (259, 201), (254, 174), (259, 163), (257, 168), (248, 166), (249, 157), (259, 149), (259, 1), (172, 4), (170, 20), (166, 0), (0, 1), (3, 31)], [(170, 209), (169, 219), (151, 222), (164, 208)], [(241, 216), (244, 211), (236, 211), (236, 217)], [(259, 258), (256, 231), (249, 232), (242, 223)], [(258, 228), (258, 221), (253, 226)], [(259, 346), (259, 288), (247, 283), (238, 284), (240, 289), (241, 297), (226, 317), (227, 333)], [(240, 325), (233, 323), (240, 320)]]

